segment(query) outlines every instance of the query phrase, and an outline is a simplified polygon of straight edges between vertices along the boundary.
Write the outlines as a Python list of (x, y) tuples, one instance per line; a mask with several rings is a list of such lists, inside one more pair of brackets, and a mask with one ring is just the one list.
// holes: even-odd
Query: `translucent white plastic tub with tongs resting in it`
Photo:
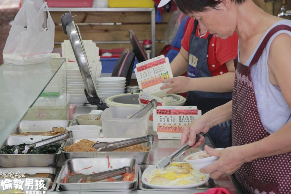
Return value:
[(127, 119), (141, 107), (115, 106), (105, 109), (101, 115), (105, 138), (140, 137), (148, 134), (149, 114), (140, 119)]

